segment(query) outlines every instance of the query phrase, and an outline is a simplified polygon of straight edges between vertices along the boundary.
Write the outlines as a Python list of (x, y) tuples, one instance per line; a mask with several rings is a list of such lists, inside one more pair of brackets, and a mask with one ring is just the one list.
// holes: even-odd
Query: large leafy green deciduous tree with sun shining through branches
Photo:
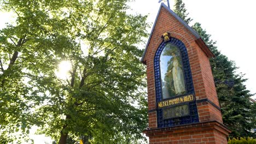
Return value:
[[(139, 143), (147, 105), (146, 16), (121, 1), (0, 1), (16, 15), (0, 31), (0, 143), (26, 140), (32, 125), (60, 143)], [(71, 63), (66, 79), (56, 73)], [(20, 133), (20, 136), (12, 135)]]

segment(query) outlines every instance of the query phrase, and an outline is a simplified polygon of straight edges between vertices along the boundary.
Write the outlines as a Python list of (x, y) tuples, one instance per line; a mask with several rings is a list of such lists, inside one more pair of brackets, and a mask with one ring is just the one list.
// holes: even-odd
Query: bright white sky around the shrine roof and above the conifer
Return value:
[[(132, 12), (148, 14), (153, 26), (160, 7), (159, 0), (136, 0), (130, 3)], [(171, 7), (174, 0), (170, 0)], [(245, 74), (245, 82), (251, 93), (256, 93), (256, 1), (255, 0), (183, 0), (193, 22), (200, 22), (212, 39), (217, 41), (218, 50), (236, 63), (238, 73)], [(10, 20), (8, 13), (0, 12), (0, 29)], [(151, 28), (149, 29), (149, 32)], [(143, 45), (141, 47), (145, 47)], [(256, 98), (254, 96), (253, 98)], [(33, 136), (34, 137), (34, 136)], [(34, 137), (36, 143), (46, 138)]]

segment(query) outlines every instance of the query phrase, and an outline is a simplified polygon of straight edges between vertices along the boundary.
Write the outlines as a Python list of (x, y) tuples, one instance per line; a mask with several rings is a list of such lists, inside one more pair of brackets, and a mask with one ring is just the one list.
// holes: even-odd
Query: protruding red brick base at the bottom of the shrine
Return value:
[(203, 143), (223, 144), (228, 143), (226, 135), (228, 132), (223, 125), (217, 122), (192, 124), (189, 126), (178, 126), (147, 130), (144, 133), (149, 136), (150, 144), (165, 143)]

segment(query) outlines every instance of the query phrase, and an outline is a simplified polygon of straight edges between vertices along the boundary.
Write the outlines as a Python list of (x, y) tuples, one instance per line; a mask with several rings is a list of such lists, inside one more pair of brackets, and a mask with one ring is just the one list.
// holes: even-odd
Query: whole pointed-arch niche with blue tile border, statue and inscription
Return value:
[[(199, 122), (188, 52), (181, 40), (170, 37), (160, 44), (154, 72), (158, 128)], [(172, 103), (186, 95), (190, 95), (189, 101)]]

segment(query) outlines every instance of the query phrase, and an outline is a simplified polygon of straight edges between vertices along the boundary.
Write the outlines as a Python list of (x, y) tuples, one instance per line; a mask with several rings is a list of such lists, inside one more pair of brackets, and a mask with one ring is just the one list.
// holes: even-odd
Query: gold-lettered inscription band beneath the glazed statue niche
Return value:
[(192, 94), (190, 95), (185, 95), (183, 97), (179, 97), (179, 98), (174, 98), (174, 99), (170, 99), (170, 100), (166, 100), (166, 101), (161, 101), (158, 103), (158, 107), (165, 107), (165, 106), (170, 106), (170, 105), (176, 105), (176, 104), (181, 104), (181, 103), (185, 103), (188, 101), (193, 101), (194, 97)]

